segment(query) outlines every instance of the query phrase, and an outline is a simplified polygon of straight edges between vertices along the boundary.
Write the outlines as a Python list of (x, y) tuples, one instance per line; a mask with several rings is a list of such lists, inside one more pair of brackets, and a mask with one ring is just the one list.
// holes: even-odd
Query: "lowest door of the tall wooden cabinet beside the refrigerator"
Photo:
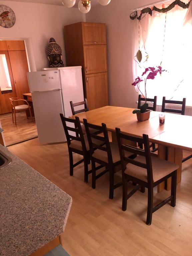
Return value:
[(89, 110), (108, 105), (107, 72), (86, 75), (86, 97)]

